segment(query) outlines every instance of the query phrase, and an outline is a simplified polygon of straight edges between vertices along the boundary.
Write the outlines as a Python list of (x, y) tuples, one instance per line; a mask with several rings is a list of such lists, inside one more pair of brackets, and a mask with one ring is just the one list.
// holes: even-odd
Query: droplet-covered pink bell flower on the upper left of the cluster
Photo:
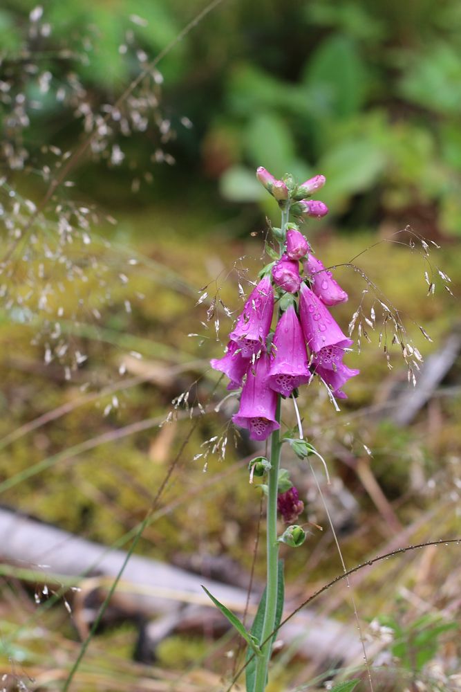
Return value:
[(241, 349), (243, 358), (250, 358), (261, 349), (265, 350), (273, 311), (274, 291), (270, 278), (265, 276), (250, 293), (234, 329), (229, 334), (229, 338)]

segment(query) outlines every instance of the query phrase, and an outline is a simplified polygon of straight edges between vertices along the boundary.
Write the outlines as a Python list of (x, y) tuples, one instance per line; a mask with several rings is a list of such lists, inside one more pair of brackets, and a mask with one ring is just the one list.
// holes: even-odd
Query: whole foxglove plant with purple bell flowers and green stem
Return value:
[[(256, 457), (250, 462), (251, 482), (254, 476), (267, 477), (267, 484), (261, 486), (267, 494), (267, 586), (252, 632), (247, 632), (213, 598), (250, 647), (247, 692), (263, 692), (267, 685), (272, 640), (283, 599), (279, 545), (298, 547), (305, 540), (302, 526), (292, 524), (303, 512), (303, 502), (289, 480), (288, 471), (279, 468), (284, 442), (301, 459), (311, 453), (318, 455), (303, 437), (295, 401), (298, 388), (317, 377), (331, 397), (342, 399), (346, 397), (342, 387), (359, 374), (343, 363), (353, 342), (329, 311), (330, 307), (345, 302), (348, 295), (321, 260), (312, 255), (308, 240), (297, 224), (289, 223), (290, 212), (298, 218), (321, 218), (327, 214), (323, 202), (308, 199), (323, 187), (324, 176), (314, 176), (301, 185), (290, 175), (278, 180), (263, 167), (258, 168), (256, 176), (281, 209), (281, 228), (273, 229), (279, 253), (272, 252), (274, 262), (264, 268), (263, 278), (247, 298), (229, 334), (225, 355), (211, 361), (211, 367), (229, 378), (228, 389), (242, 385), (240, 406), (232, 417), (234, 424), (246, 428), (254, 441), (270, 438), (269, 459)], [(297, 439), (292, 437), (292, 432), (283, 437), (280, 432), (282, 399), (290, 398), (297, 412)], [(277, 512), (290, 524), (281, 536), (277, 536)]]

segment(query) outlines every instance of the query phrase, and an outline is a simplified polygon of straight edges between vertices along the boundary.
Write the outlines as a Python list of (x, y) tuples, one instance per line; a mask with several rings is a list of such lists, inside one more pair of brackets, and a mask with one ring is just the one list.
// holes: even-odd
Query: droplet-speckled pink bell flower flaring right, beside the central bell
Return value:
[(304, 283), (299, 293), (299, 316), (310, 352), (317, 357), (326, 347), (337, 346), (344, 352), (354, 343), (343, 334), (323, 302)]

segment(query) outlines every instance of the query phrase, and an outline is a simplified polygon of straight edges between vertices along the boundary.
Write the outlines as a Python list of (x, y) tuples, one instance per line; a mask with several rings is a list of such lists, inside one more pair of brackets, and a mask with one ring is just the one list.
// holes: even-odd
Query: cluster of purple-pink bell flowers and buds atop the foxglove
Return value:
[[(283, 181), (276, 181), (265, 169), (258, 169), (257, 175), (276, 199), (288, 199), (277, 197)], [(297, 190), (312, 192), (324, 182), (323, 176), (316, 176)], [(318, 205), (323, 203), (316, 204), (319, 215)], [(271, 275), (263, 277), (247, 298), (229, 334), (225, 356), (211, 361), (211, 367), (229, 378), (228, 389), (243, 385), (240, 408), (232, 420), (247, 428), (251, 439), (261, 441), (280, 427), (275, 416), (277, 394), (290, 397), (294, 389), (317, 375), (335, 397), (345, 399), (341, 388), (359, 373), (343, 363), (353, 342), (328, 310), (348, 300), (347, 293), (312, 255), (308, 241), (294, 224), (288, 226), (284, 250)], [(274, 318), (274, 286), (277, 298), (285, 293), (294, 297), (277, 320), (272, 339), (268, 339)]]

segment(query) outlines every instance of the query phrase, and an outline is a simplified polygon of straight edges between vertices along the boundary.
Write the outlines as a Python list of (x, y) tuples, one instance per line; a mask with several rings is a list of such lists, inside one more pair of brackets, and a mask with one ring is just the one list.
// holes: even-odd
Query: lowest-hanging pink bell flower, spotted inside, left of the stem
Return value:
[(269, 356), (265, 353), (249, 367), (243, 385), (240, 408), (232, 416), (236, 426), (250, 430), (250, 439), (263, 441), (280, 428), (275, 419), (277, 395), (269, 386)]

